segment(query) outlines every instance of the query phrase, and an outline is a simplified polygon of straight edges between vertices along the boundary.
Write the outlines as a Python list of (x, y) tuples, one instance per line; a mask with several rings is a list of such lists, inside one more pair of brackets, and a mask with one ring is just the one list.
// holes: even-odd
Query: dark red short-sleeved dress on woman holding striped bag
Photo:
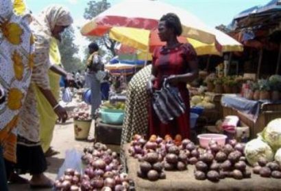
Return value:
[[(190, 68), (189, 61), (196, 61), (196, 52), (191, 44), (179, 44), (175, 48), (167, 48), (162, 46), (156, 48), (152, 65), (154, 67), (154, 74), (156, 80), (154, 81), (154, 88), (160, 89), (163, 78), (173, 74), (186, 74)], [(149, 136), (156, 134), (164, 138), (166, 134), (175, 136), (175, 134), (182, 135), (182, 138), (189, 138), (190, 124), (189, 124), (189, 93), (186, 88), (186, 83), (178, 83), (178, 89), (186, 105), (186, 112), (173, 119), (167, 124), (161, 123), (158, 119), (151, 102), (149, 102)]]

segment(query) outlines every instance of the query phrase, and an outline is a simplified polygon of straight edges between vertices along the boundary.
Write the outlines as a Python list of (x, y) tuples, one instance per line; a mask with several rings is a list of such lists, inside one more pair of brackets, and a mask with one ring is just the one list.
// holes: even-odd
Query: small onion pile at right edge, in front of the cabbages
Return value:
[(253, 173), (261, 177), (281, 179), (281, 166), (276, 161), (268, 162), (266, 158), (259, 158), (254, 164)]

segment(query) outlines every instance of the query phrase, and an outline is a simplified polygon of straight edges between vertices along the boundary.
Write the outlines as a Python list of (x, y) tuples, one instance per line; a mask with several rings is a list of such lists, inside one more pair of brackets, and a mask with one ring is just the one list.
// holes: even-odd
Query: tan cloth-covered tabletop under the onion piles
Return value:
[(194, 165), (188, 164), (187, 171), (165, 171), (166, 179), (148, 181), (140, 179), (136, 175), (138, 171), (138, 160), (129, 156), (129, 144), (124, 145), (125, 160), (128, 175), (134, 180), (136, 190), (281, 190), (281, 180), (273, 178), (262, 178), (252, 174), (250, 179), (236, 180), (232, 178), (221, 179), (219, 182), (204, 180), (199, 181), (193, 175)]

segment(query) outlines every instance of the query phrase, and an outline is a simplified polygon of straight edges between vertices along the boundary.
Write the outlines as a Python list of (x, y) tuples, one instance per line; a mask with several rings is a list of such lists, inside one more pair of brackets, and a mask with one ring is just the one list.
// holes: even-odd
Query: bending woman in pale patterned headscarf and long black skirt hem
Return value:
[(53, 111), (61, 121), (67, 119), (67, 113), (51, 92), (48, 70), (53, 67), (49, 59), (52, 36), (58, 36), (73, 23), (70, 12), (60, 5), (51, 5), (43, 10), (30, 25), (34, 33), (35, 55), (32, 85), (29, 86), (23, 110), (19, 115), (16, 168), (21, 173), (30, 173), (32, 188), (51, 188), (53, 182), (44, 175), (47, 162), (40, 145), (39, 116), (35, 89), (45, 96)]

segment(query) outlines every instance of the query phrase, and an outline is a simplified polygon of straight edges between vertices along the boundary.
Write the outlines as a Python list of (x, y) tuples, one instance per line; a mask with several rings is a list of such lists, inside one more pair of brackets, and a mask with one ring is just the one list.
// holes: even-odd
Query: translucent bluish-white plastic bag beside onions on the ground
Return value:
[(81, 153), (76, 149), (66, 150), (65, 152), (65, 160), (60, 169), (58, 170), (58, 177), (62, 177), (64, 175), (64, 171), (67, 168), (72, 168), (73, 170), (82, 173), (82, 160), (81, 160)]

